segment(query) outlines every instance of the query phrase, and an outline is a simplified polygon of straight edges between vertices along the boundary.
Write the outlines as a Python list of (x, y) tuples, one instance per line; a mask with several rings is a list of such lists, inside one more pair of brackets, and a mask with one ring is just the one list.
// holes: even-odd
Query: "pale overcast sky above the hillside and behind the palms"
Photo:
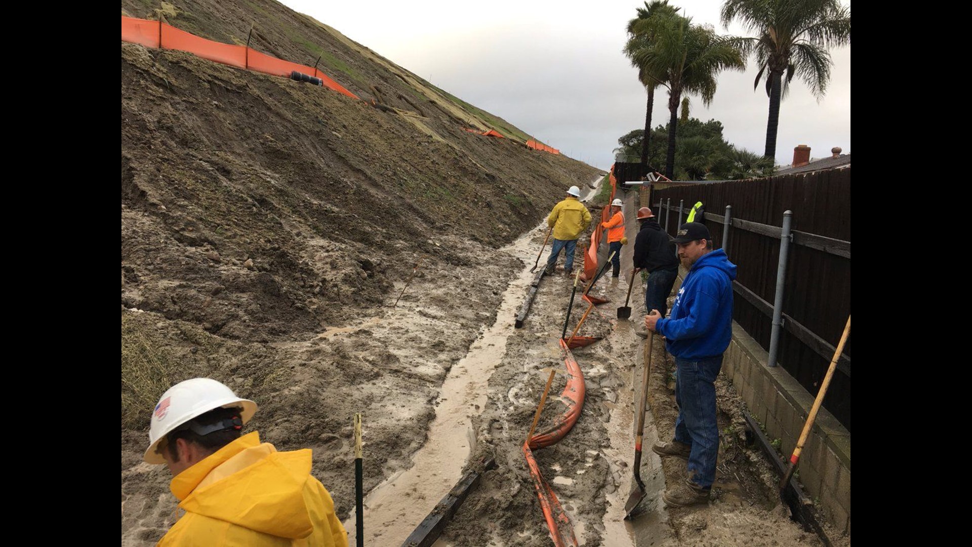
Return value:
[[(282, 0), (297, 12), (432, 82), (438, 88), (537, 135), (568, 156), (608, 169), (619, 136), (644, 127), (647, 95), (621, 53), (625, 27), (643, 0)], [(722, 0), (670, 0), (720, 34), (753, 36), (719, 23)], [(845, 0), (845, 5), (851, 2)], [(780, 109), (777, 163), (793, 147), (813, 158), (851, 152), (851, 48), (831, 50), (834, 65), (819, 102), (798, 79)], [(762, 154), (769, 98), (753, 91), (755, 63), (724, 72), (712, 105), (690, 95), (690, 115), (722, 122), (730, 143)], [(668, 122), (668, 91), (655, 91), (651, 125)]]

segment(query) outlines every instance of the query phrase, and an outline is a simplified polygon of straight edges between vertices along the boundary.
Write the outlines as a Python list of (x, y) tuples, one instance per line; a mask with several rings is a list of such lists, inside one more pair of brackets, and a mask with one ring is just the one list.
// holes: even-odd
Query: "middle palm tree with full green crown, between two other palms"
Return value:
[(632, 60), (647, 74), (665, 74), (661, 85), (669, 90), (671, 118), (665, 176), (672, 178), (682, 93), (698, 93), (702, 103), (708, 106), (715, 96), (718, 73), (726, 69), (742, 70), (746, 62), (733, 38), (718, 36), (712, 26), (692, 24), (691, 18), (659, 16), (636, 26), (649, 26), (654, 31), (654, 40), (650, 47), (636, 52)]

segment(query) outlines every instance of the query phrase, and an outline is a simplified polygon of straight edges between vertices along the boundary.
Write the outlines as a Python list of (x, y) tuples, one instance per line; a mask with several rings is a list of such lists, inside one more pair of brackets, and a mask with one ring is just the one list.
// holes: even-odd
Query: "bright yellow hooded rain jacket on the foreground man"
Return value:
[(310, 455), (277, 452), (256, 431), (229, 443), (172, 479), (186, 514), (158, 546), (347, 547)]

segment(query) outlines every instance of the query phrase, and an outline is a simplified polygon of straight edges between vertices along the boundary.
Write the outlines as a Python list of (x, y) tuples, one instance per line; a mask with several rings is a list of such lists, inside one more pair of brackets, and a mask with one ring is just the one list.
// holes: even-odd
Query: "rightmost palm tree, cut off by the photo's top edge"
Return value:
[(817, 100), (830, 82), (830, 48), (851, 43), (851, 8), (838, 0), (726, 0), (722, 24), (740, 19), (758, 38), (740, 38), (746, 52), (755, 53), (759, 73), (753, 89), (766, 76), (770, 115), (766, 124), (767, 158), (777, 154), (780, 101), (794, 76), (810, 87)]

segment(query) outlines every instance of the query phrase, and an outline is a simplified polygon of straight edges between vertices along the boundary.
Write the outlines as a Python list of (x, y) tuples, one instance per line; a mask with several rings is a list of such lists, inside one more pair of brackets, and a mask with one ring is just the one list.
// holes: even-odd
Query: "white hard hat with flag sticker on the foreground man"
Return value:
[(158, 441), (183, 423), (221, 407), (243, 407), (240, 413), (243, 423), (250, 421), (257, 412), (257, 403), (240, 399), (232, 389), (209, 378), (193, 378), (169, 387), (158, 399), (152, 413), (149, 449), (142, 459), (147, 463), (165, 463), (165, 459), (156, 454)]

